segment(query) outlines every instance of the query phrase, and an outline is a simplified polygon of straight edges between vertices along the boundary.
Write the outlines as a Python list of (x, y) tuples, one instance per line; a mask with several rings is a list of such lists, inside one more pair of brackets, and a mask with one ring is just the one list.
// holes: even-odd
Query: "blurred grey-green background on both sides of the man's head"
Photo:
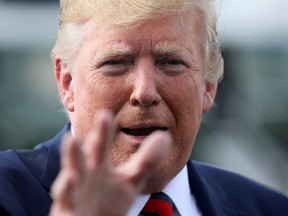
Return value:
[[(57, 0), (0, 0), (0, 150), (32, 148), (67, 121), (49, 58)], [(225, 77), (192, 158), (288, 195), (288, 1), (222, 0)]]

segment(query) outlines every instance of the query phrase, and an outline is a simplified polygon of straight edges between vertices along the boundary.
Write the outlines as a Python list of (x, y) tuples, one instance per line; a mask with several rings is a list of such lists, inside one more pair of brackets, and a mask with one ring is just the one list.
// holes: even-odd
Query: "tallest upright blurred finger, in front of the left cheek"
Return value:
[(96, 117), (95, 130), (88, 134), (84, 144), (89, 169), (96, 169), (99, 164), (108, 159), (114, 131), (112, 114), (108, 111), (100, 111)]

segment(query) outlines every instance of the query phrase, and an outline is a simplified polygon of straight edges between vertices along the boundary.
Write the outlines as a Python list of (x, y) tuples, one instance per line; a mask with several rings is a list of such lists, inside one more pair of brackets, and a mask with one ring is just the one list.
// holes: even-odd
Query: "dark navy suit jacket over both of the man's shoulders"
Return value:
[[(59, 148), (69, 124), (33, 150), (0, 152), (0, 215), (44, 216), (59, 172)], [(259, 184), (198, 162), (188, 162), (191, 193), (203, 216), (287, 216), (288, 199)], [(184, 215), (185, 216), (185, 215)]]

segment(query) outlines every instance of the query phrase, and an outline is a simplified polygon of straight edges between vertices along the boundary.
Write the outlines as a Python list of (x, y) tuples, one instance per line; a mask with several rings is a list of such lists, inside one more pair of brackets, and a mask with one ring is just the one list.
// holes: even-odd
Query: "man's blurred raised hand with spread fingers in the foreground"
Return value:
[(103, 111), (84, 141), (71, 134), (65, 137), (50, 216), (126, 214), (145, 187), (151, 168), (168, 155), (171, 137), (167, 132), (151, 134), (131, 159), (114, 167), (109, 156), (114, 133), (113, 117)]

